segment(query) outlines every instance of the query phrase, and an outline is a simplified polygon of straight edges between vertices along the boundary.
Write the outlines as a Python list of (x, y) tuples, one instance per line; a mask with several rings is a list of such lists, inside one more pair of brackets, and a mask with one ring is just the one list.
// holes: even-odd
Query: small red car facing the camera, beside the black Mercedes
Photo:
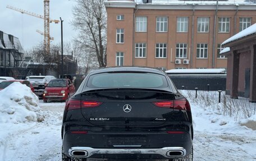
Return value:
[(75, 93), (75, 87), (69, 79), (54, 79), (44, 89), (43, 101), (67, 100)]

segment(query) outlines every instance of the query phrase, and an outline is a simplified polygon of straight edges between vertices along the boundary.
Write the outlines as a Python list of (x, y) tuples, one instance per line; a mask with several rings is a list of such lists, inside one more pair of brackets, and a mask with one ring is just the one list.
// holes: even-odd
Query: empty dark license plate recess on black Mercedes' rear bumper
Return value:
[(144, 146), (148, 142), (146, 136), (109, 136), (109, 146), (122, 146), (122, 145), (141, 145)]

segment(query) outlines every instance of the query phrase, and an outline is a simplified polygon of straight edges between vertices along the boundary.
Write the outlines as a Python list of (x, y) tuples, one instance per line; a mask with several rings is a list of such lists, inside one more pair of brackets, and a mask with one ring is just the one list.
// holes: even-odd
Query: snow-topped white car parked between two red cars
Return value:
[(31, 82), (33, 87), (35, 88), (35, 94), (39, 97), (43, 96), (45, 86), (49, 83), (49, 81), (56, 79), (54, 76), (29, 76), (27, 78), (28, 81)]

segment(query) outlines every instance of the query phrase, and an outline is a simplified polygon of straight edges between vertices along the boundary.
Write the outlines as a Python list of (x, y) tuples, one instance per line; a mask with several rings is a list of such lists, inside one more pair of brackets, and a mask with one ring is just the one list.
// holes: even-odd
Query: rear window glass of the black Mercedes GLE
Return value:
[(99, 73), (89, 77), (91, 88), (165, 88), (166, 77), (155, 73)]

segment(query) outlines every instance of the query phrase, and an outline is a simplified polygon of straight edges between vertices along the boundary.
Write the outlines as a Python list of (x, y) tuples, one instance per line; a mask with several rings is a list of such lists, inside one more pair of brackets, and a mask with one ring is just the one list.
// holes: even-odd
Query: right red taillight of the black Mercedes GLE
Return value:
[(163, 102), (154, 102), (154, 105), (162, 108), (173, 108), (173, 109), (182, 109), (190, 111), (190, 105), (188, 100), (184, 99), (176, 99), (176, 100), (168, 100)]

